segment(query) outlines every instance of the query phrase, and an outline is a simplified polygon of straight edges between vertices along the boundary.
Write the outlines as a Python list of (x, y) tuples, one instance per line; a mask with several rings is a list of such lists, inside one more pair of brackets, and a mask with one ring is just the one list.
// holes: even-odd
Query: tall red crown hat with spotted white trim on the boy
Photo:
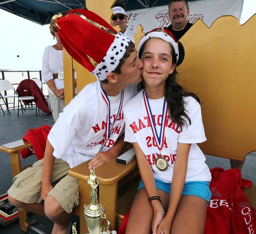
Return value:
[(115, 70), (130, 39), (97, 14), (71, 10), (57, 20), (56, 28), (67, 52), (99, 80)]

